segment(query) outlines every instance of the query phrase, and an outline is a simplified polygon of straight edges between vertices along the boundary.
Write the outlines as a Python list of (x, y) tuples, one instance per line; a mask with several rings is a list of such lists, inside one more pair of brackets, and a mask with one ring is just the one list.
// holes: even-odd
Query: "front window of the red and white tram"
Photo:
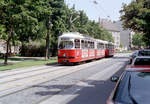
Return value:
[(73, 48), (72, 41), (61, 41), (59, 44), (59, 49), (71, 49)]

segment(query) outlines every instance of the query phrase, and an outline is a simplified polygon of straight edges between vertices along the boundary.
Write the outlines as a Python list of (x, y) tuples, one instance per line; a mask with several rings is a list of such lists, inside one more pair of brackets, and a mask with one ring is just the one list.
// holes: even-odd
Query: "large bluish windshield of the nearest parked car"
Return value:
[(114, 101), (123, 104), (149, 104), (150, 72), (126, 72), (116, 90)]

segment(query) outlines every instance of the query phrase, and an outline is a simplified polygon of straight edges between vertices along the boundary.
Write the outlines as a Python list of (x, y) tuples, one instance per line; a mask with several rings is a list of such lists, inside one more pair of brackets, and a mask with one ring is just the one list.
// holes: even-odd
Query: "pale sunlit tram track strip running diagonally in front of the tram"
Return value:
[[(107, 60), (108, 59), (105, 59), (104, 61), (107, 61)], [(98, 63), (98, 62), (94, 62), (94, 63)], [(31, 76), (22, 77), (22, 79), (19, 78), (19, 79), (13, 80), (13, 81), (11, 80), (11, 81), (7, 81), (7, 82), (3, 82), (3, 84), (1, 82), (2, 85), (0, 86), (0, 92), (1, 92), (0, 97), (15, 93), (20, 90), (30, 88), (33, 85), (45, 83), (47, 81), (51, 81), (51, 80), (54, 80), (54, 79), (57, 79), (60, 77), (67, 76), (69, 74), (75, 73), (82, 69), (86, 69), (87, 67), (92, 67), (92, 65), (93, 64), (91, 62), (91, 63), (87, 63), (84, 65), (72, 66), (71, 68), (68, 66), (67, 67), (61, 66), (61, 67), (56, 67), (56, 69), (54, 69), (53, 71), (51, 70), (51, 71), (43, 72), (38, 75), (35, 74), (35, 75), (31, 75)], [(52, 67), (49, 67), (49, 68), (52, 68)], [(39, 69), (39, 70), (41, 70), (41, 69)], [(42, 69), (42, 70), (46, 70), (46, 69)], [(47, 70), (48, 70), (48, 68), (47, 68)], [(30, 73), (31, 72), (32, 71), (30, 71)], [(25, 73), (27, 73), (27, 72), (25, 72)], [(15, 74), (15, 75), (18, 75), (18, 74)], [(11, 76), (13, 76), (13, 75), (11, 75)]]

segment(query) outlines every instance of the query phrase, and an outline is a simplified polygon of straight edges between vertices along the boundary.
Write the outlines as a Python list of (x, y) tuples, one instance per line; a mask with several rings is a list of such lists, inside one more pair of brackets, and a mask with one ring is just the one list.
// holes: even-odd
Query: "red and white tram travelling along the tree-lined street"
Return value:
[(76, 63), (114, 55), (114, 44), (77, 32), (58, 38), (58, 63)]

